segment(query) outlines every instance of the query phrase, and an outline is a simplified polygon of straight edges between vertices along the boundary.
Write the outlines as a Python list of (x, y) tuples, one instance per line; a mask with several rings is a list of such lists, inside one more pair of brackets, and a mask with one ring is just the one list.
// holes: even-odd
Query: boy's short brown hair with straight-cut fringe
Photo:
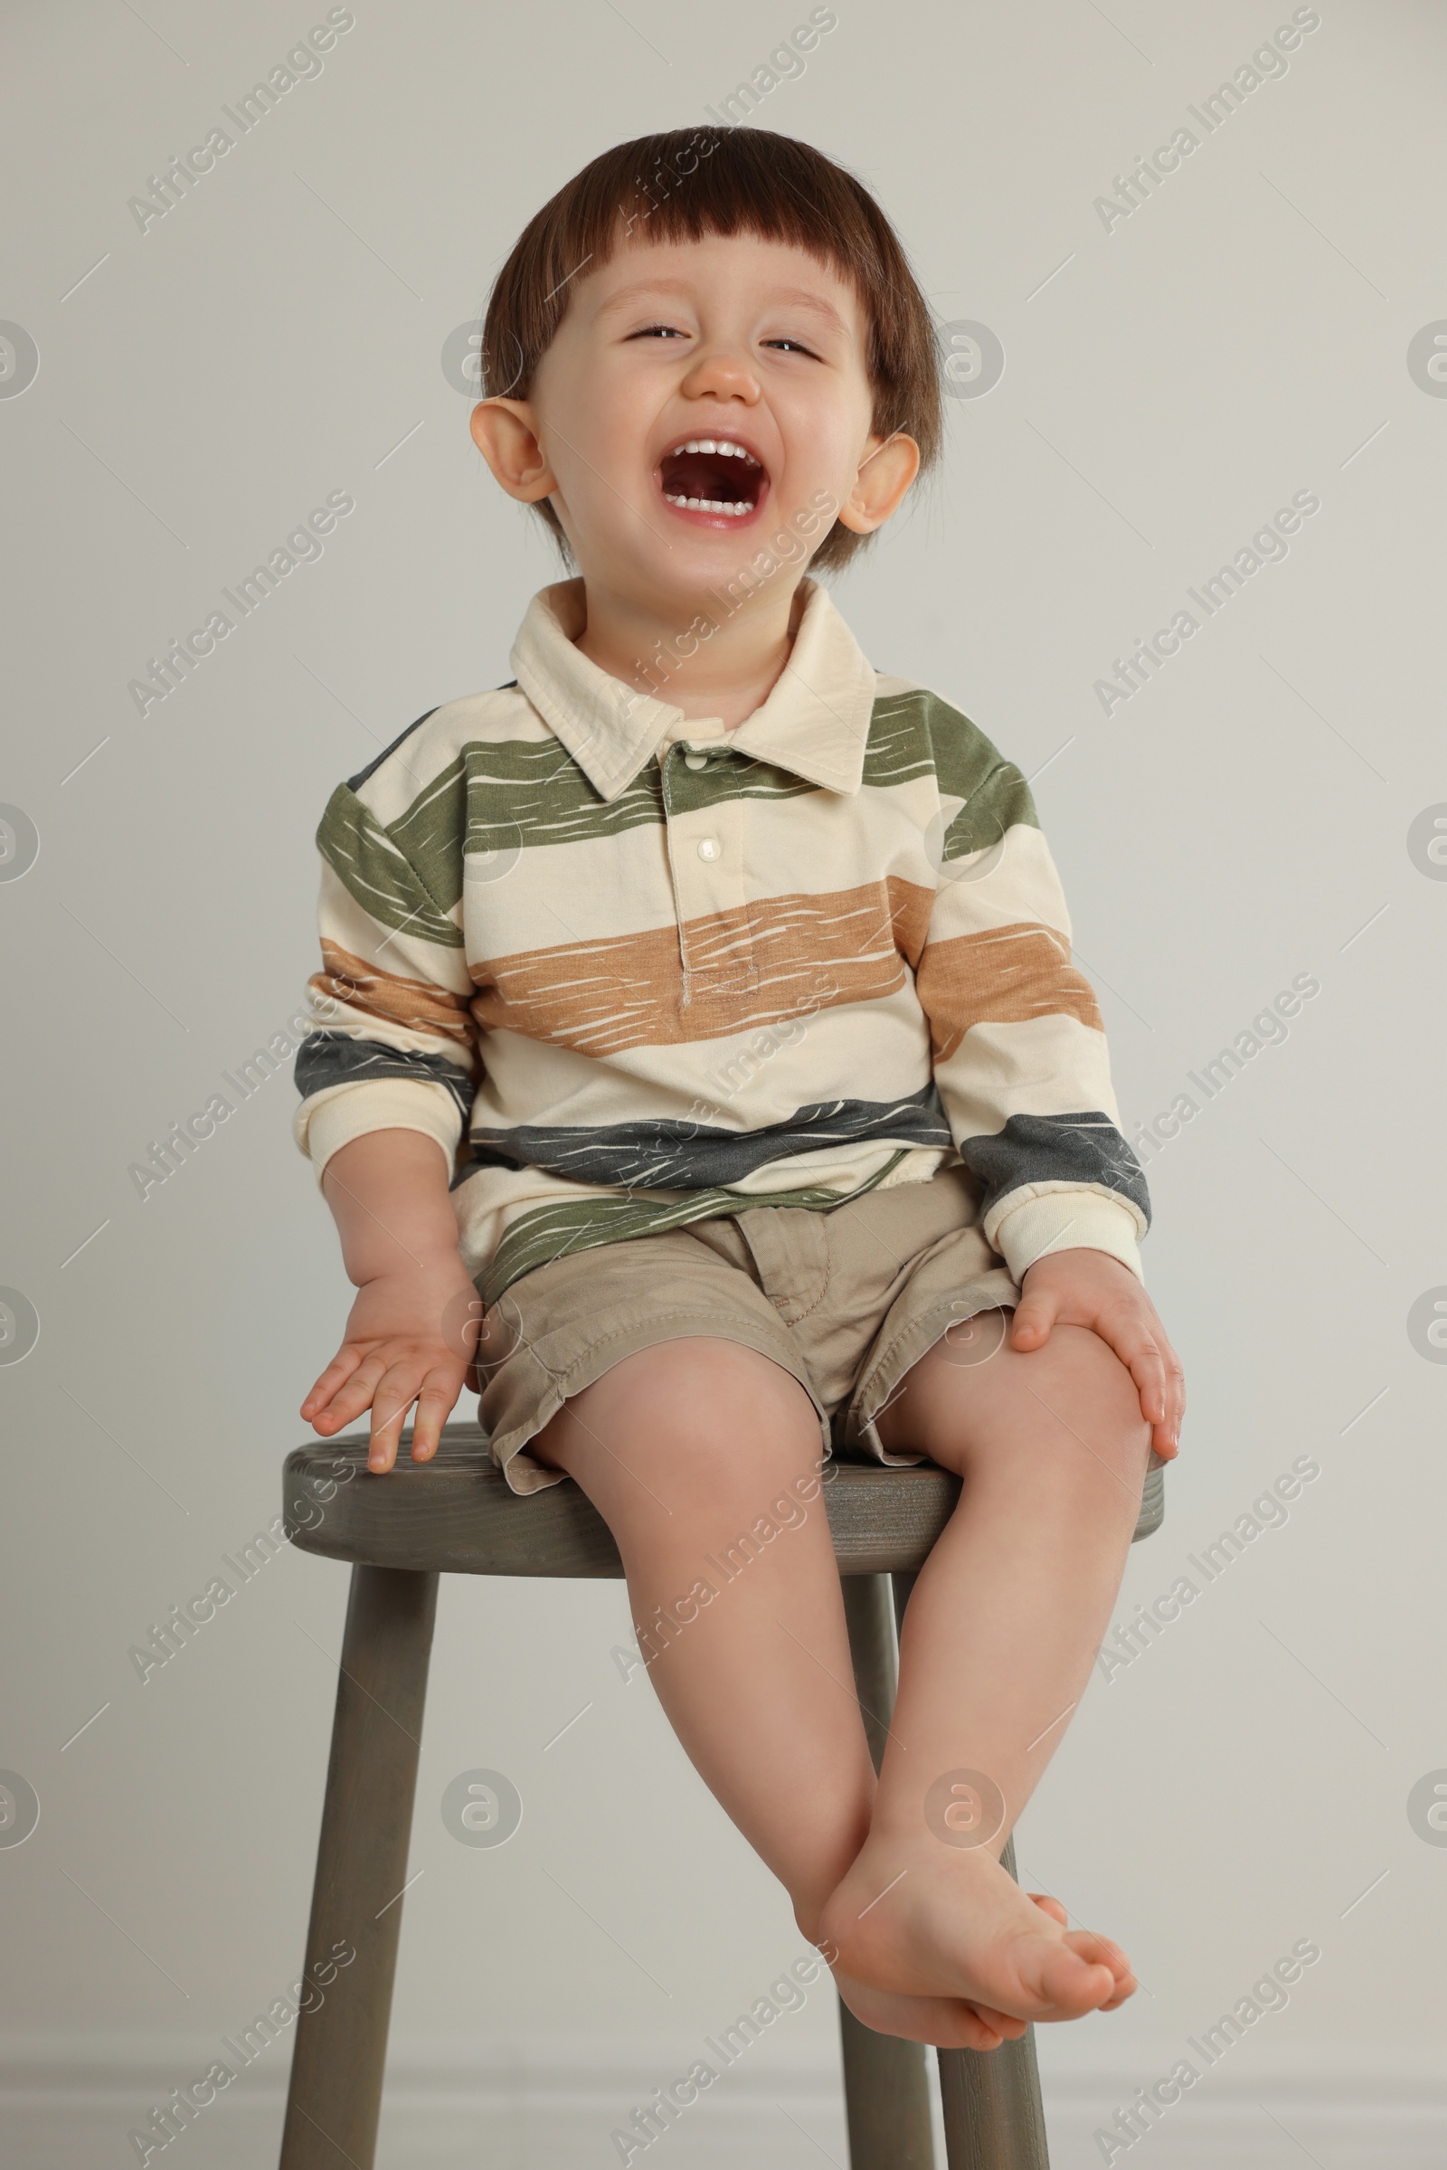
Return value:
[[(907, 432), (920, 471), (939, 458), (939, 349), (909, 258), (863, 182), (792, 137), (755, 128), (670, 128), (618, 143), (575, 174), (523, 228), (497, 273), (482, 334), (484, 397), (525, 399), (568, 306), (568, 280), (620, 241), (759, 234), (807, 250), (848, 280), (866, 312), (874, 432)], [(566, 553), (562, 525), (536, 512)], [(835, 521), (814, 571), (842, 566), (868, 536)]]

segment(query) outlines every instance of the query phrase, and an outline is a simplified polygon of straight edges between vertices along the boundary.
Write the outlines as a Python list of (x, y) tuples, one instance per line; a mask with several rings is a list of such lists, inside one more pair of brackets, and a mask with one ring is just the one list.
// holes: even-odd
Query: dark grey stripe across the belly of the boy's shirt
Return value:
[(931, 1078), (900, 1100), (820, 1100), (783, 1122), (759, 1131), (722, 1131), (703, 1122), (597, 1124), (562, 1128), (518, 1124), (510, 1131), (473, 1131), (473, 1159), (460, 1180), (477, 1167), (542, 1167), (573, 1183), (616, 1185), (649, 1191), (703, 1191), (742, 1183), (755, 1167), (796, 1152), (859, 1146), (889, 1139), (907, 1146), (948, 1148), (939, 1092)]

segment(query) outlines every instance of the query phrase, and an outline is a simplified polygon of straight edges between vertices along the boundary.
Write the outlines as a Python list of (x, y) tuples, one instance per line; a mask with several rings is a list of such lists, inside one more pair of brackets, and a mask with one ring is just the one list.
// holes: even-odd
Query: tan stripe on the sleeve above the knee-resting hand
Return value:
[(972, 1024), (1067, 1016), (1104, 1031), (1091, 985), (1070, 961), (1070, 942), (1035, 920), (931, 942), (915, 985), (935, 1063), (948, 1061)]

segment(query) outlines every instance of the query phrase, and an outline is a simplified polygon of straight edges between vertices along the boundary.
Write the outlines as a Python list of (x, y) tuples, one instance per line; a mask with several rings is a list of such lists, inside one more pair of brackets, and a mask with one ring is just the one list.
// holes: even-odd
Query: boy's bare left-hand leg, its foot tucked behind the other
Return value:
[[(820, 1907), (868, 1838), (876, 1782), (814, 1404), (735, 1341), (664, 1341), (573, 1395), (529, 1454), (573, 1476), (614, 1532), (673, 1729), (818, 1942)], [(991, 2048), (1022, 2031), (963, 2001), (837, 1979), (881, 2033)]]

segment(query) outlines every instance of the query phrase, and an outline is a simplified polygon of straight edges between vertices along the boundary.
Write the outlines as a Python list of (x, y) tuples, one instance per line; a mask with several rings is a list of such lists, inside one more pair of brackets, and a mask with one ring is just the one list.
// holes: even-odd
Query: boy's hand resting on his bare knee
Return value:
[(1052, 1326), (1089, 1326), (1130, 1371), (1150, 1443), (1163, 1463), (1180, 1452), (1187, 1382), (1150, 1295), (1104, 1250), (1052, 1250), (1028, 1265), (1011, 1324), (1011, 1348), (1043, 1348)]

